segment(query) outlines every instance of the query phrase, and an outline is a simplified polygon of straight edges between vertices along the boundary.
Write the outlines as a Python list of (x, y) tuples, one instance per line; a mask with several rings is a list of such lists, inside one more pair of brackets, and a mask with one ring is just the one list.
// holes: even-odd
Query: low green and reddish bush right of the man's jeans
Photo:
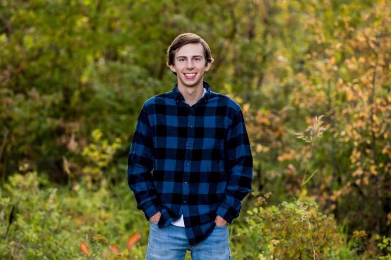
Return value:
[(241, 243), (243, 259), (341, 259), (342, 236), (331, 215), (319, 212), (314, 200), (306, 206), (283, 202), (247, 211), (246, 224), (234, 243)]

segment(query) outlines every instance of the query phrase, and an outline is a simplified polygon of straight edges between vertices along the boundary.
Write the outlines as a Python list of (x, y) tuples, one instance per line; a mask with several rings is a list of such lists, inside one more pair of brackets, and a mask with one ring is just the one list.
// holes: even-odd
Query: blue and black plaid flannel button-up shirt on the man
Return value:
[[(253, 157), (242, 111), (225, 95), (184, 102), (177, 85), (145, 102), (137, 119), (127, 179), (147, 219), (159, 228), (183, 214), (190, 245), (207, 238), (216, 215), (232, 223), (251, 190)], [(153, 170), (153, 174), (151, 171)]]

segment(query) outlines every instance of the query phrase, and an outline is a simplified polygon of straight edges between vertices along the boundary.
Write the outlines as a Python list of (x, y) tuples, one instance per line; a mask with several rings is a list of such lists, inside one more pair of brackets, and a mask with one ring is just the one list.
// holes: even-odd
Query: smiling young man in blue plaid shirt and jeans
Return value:
[(150, 221), (147, 259), (183, 259), (186, 250), (230, 259), (228, 223), (253, 177), (243, 114), (203, 80), (213, 58), (198, 35), (179, 35), (167, 54), (177, 84), (144, 104), (128, 159), (129, 187)]

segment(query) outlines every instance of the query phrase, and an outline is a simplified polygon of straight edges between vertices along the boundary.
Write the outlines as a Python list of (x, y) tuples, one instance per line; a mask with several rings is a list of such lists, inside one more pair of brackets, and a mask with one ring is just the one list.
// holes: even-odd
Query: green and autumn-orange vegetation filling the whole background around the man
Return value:
[(254, 153), (233, 258), (391, 259), (390, 6), (1, 1), (0, 258), (145, 257), (127, 154), (143, 103), (175, 83), (167, 46), (195, 32)]

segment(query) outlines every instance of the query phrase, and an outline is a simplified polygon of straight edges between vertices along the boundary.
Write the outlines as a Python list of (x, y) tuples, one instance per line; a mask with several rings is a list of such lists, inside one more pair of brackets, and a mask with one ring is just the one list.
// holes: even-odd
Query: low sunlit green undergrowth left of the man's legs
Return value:
[[(36, 171), (28, 171), (10, 177), (0, 190), (1, 259), (86, 259), (79, 244), (103, 236), (106, 243), (90, 241), (90, 259), (116, 255), (113, 248), (144, 258), (148, 222), (125, 182), (109, 189), (103, 180), (96, 191), (46, 184)], [(128, 250), (127, 239), (136, 232), (141, 241)]]

